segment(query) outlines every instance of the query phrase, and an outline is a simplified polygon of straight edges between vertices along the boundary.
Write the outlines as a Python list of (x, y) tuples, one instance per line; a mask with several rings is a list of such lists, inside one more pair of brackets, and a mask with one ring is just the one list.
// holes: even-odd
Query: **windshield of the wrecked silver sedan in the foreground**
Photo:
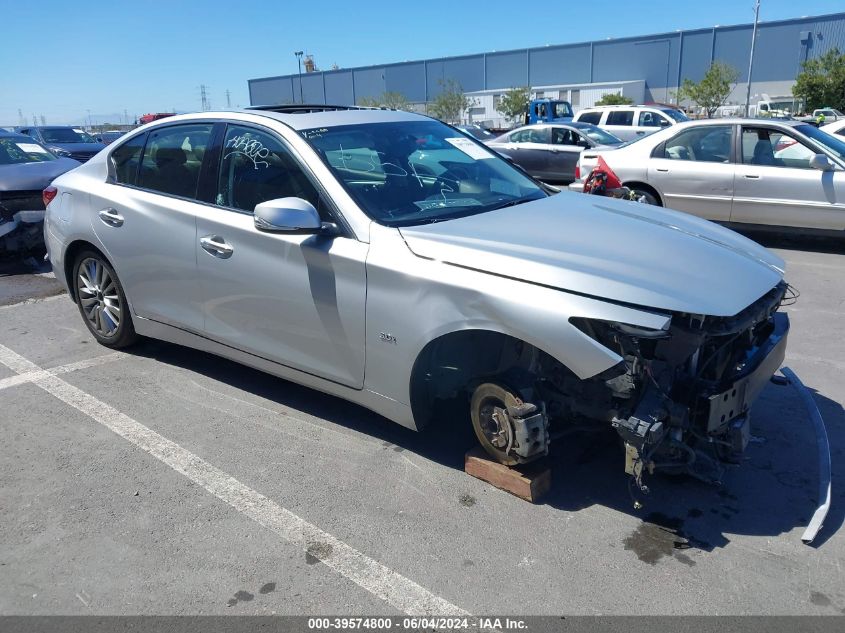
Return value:
[(546, 197), (495, 152), (438, 121), (300, 132), (373, 220), (411, 226)]

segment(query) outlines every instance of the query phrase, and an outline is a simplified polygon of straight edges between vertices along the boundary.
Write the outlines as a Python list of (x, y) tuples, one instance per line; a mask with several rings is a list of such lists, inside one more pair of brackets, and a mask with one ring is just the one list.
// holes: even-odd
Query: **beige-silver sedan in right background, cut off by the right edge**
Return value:
[(583, 189), (599, 155), (651, 204), (741, 226), (845, 234), (845, 141), (807, 123), (692, 121), (585, 150), (570, 190)]

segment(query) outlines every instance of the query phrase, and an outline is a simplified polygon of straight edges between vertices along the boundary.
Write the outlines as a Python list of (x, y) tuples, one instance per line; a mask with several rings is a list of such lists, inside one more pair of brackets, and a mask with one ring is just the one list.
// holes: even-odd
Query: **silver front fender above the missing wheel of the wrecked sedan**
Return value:
[(621, 357), (574, 327), (571, 317), (659, 329), (669, 317), (535, 284), (420, 258), (398, 231), (374, 226), (367, 260), (365, 386), (410, 403), (410, 376), (431, 341), (464, 330), (523, 340), (579, 378)]

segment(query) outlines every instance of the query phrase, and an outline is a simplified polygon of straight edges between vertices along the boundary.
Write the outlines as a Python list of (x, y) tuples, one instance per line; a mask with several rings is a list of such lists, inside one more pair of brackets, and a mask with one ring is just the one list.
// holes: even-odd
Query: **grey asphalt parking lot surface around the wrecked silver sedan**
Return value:
[(0, 272), (0, 612), (845, 614), (845, 249), (765, 243), (831, 444), (812, 546), (792, 386), (767, 386), (721, 487), (655, 477), (635, 510), (609, 432), (558, 443), (530, 505), (463, 472), (454, 420), (416, 434), (200, 352), (112, 352), (49, 274)]

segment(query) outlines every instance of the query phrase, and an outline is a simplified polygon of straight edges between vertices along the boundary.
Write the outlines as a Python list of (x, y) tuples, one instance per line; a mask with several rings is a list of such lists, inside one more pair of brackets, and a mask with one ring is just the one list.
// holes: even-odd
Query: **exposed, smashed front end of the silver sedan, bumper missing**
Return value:
[(784, 359), (789, 318), (777, 310), (789, 290), (781, 282), (732, 317), (676, 313), (666, 330), (573, 318), (624, 360), (577, 386), (566, 375), (548, 376), (546, 401), (565, 420), (610, 422), (640, 492), (648, 491), (646, 472), (717, 482), (724, 463), (740, 460), (751, 405)]

